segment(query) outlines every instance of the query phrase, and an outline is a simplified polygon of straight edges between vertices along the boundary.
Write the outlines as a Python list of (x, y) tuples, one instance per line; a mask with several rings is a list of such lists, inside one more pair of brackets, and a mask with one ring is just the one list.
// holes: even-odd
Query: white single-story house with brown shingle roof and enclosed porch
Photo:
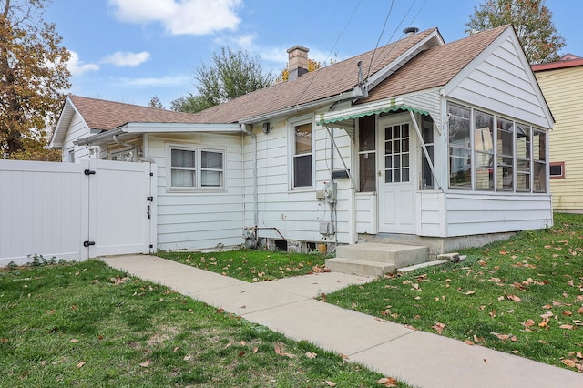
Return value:
[(552, 225), (553, 118), (512, 26), (450, 44), (415, 30), (310, 73), (308, 49), (288, 52), (288, 82), (196, 115), (69, 96), (51, 146), (155, 163), (162, 250), (443, 253)]

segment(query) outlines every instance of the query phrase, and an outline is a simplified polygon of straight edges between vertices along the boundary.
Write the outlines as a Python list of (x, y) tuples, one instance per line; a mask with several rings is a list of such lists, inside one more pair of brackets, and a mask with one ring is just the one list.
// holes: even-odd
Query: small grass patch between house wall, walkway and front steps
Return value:
[(274, 281), (326, 271), (325, 256), (267, 250), (226, 250), (211, 253), (159, 251), (164, 259), (213, 271), (241, 281)]

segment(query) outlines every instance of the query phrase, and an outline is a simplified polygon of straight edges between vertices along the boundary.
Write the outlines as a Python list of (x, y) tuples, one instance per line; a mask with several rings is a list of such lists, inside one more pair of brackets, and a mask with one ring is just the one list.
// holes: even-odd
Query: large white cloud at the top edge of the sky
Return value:
[(172, 35), (208, 35), (240, 24), (242, 0), (109, 0), (119, 20), (159, 22)]

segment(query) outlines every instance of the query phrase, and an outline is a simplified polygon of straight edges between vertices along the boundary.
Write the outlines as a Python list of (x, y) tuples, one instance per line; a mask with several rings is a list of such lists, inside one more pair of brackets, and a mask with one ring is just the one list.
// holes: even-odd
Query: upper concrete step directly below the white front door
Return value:
[(415, 245), (363, 242), (338, 246), (336, 248), (336, 257), (384, 262), (394, 264), (396, 268), (401, 268), (429, 260), (429, 250), (427, 247)]

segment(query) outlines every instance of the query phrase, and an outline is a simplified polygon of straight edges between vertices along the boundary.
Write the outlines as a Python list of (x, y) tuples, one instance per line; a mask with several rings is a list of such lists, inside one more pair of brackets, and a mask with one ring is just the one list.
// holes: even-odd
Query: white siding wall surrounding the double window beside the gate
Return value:
[[(209, 250), (242, 244), (241, 135), (148, 135), (147, 143), (147, 157), (152, 158), (158, 167), (158, 202), (155, 205), (159, 249)], [(223, 187), (169, 190), (170, 147), (223, 152)]]

